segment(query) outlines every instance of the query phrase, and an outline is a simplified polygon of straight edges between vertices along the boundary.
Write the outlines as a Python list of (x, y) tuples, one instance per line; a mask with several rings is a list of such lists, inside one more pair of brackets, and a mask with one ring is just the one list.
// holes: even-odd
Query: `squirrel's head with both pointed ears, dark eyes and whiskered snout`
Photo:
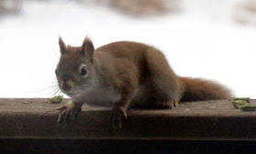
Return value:
[(93, 86), (94, 46), (86, 37), (82, 46), (66, 46), (59, 37), (60, 58), (55, 70), (61, 91), (69, 97), (80, 95)]

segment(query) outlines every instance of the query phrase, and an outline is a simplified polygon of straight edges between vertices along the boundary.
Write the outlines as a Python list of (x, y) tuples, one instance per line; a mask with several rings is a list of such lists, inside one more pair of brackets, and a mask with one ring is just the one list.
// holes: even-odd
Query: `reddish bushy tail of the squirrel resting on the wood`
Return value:
[(179, 79), (184, 86), (181, 102), (231, 98), (229, 89), (218, 83), (199, 78), (179, 77)]

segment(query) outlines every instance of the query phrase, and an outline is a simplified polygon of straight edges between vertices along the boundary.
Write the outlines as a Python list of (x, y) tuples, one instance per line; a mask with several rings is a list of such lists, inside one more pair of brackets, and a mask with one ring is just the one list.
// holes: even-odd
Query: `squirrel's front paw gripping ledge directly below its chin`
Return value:
[(81, 108), (76, 107), (72, 101), (69, 101), (65, 106), (59, 108), (59, 123), (70, 123), (73, 122), (81, 111)]

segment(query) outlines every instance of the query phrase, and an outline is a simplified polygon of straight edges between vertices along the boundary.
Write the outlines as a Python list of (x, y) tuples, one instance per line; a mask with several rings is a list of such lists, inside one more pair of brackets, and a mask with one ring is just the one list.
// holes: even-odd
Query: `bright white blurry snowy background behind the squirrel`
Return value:
[(149, 44), (177, 75), (256, 98), (256, 0), (0, 0), (0, 98), (59, 95), (59, 36)]

